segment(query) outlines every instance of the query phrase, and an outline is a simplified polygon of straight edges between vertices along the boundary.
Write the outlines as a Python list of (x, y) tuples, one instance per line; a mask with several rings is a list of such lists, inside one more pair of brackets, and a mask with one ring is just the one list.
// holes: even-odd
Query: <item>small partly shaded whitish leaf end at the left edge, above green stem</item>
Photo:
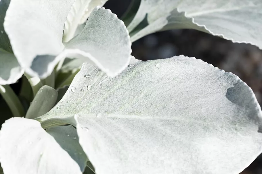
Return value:
[(0, 49), (0, 57), (0, 85), (16, 83), (24, 69), (20, 67), (14, 54)]

